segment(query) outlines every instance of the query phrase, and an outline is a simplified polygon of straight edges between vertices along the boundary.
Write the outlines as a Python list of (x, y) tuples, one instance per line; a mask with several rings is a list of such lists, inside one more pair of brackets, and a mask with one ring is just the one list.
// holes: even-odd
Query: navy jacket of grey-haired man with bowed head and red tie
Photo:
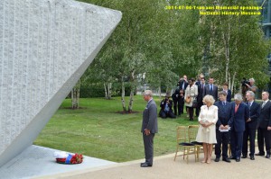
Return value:
[(236, 132), (245, 131), (248, 116), (248, 105), (246, 103), (240, 103), (237, 112), (235, 112), (235, 103), (231, 103), (231, 118), (229, 120), (231, 130)]

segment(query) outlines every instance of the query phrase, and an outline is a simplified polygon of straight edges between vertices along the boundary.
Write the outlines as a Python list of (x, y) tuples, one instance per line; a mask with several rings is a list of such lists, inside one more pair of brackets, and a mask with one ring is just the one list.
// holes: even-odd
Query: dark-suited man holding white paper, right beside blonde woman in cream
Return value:
[(232, 104), (226, 101), (227, 94), (224, 91), (219, 93), (220, 101), (214, 103), (219, 108), (219, 120), (216, 123), (216, 137), (217, 144), (215, 145), (215, 162), (220, 161), (221, 144), (222, 144), (222, 160), (230, 162), (228, 157), (228, 144), (229, 144), (229, 119), (231, 118)]

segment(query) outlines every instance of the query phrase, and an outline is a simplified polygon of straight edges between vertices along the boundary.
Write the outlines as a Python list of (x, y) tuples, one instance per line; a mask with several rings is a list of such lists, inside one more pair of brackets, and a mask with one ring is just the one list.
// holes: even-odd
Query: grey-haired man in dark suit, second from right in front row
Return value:
[(242, 148), (242, 158), (248, 157), (248, 139), (249, 139), (249, 157), (251, 160), (255, 160), (255, 138), (257, 130), (257, 118), (260, 115), (260, 104), (254, 101), (255, 94), (252, 91), (246, 93), (247, 104), (248, 104), (248, 114), (249, 118), (246, 121), (246, 130), (243, 136), (243, 148)]

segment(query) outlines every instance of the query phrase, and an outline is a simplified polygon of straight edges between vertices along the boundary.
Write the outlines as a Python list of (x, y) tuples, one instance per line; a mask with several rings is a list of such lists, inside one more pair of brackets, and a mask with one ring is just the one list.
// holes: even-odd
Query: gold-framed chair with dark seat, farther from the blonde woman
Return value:
[[(181, 155), (178, 155), (178, 152), (182, 152)], [(181, 157), (183, 160), (186, 160), (186, 163), (189, 162), (189, 156), (194, 155), (195, 161), (197, 160), (197, 153), (195, 145), (189, 142), (188, 139), (188, 127), (187, 126), (178, 126), (176, 131), (176, 152), (175, 157)]]

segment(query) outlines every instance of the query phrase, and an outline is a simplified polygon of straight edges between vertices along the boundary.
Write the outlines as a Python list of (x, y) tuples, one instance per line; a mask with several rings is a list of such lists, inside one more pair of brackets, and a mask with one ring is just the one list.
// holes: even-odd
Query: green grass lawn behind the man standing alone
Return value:
[[(159, 98), (154, 97), (159, 111)], [(126, 98), (126, 103), (128, 98)], [(70, 110), (70, 99), (66, 99), (52, 116), (34, 145), (81, 153), (114, 162), (125, 162), (144, 158), (141, 130), (142, 112), (145, 101), (135, 95), (131, 114), (122, 111), (120, 97), (112, 100), (103, 98), (80, 99), (81, 109)], [(198, 124), (189, 121), (186, 114), (177, 119), (158, 118), (159, 133), (154, 138), (154, 156), (173, 153), (175, 150), (176, 127)]]

